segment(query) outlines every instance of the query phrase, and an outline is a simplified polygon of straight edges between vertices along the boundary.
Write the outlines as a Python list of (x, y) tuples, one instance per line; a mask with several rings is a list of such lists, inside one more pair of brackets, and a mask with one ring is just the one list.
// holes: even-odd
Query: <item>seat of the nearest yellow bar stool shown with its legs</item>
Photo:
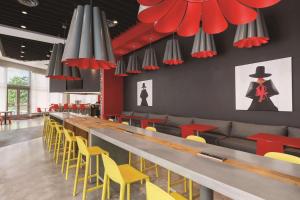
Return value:
[(119, 165), (120, 172), (126, 183), (135, 183), (147, 179), (148, 176), (128, 164)]

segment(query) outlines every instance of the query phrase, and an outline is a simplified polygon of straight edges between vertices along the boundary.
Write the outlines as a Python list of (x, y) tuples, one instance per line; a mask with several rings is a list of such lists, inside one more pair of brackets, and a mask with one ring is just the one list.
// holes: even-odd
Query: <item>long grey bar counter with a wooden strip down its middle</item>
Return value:
[[(212, 199), (212, 190), (232, 199), (298, 200), (300, 197), (299, 165), (106, 120), (62, 113), (50, 115), (87, 131), (89, 143), (108, 150), (118, 164), (128, 161), (127, 151), (130, 151), (193, 180), (201, 185), (201, 199)], [(227, 160), (204, 158), (199, 156), (200, 152)]]

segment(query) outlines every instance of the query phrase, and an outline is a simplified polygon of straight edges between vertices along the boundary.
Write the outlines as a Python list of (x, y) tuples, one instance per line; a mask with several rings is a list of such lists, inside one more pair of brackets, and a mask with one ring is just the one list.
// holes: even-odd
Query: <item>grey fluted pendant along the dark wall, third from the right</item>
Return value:
[(183, 63), (179, 42), (174, 35), (167, 41), (163, 63), (167, 65), (178, 65)]

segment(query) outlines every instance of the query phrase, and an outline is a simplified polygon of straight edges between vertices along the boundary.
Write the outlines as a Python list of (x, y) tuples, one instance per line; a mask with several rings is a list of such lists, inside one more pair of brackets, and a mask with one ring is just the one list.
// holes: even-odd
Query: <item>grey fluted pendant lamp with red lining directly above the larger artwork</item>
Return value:
[(265, 19), (257, 10), (257, 17), (248, 24), (237, 26), (233, 46), (237, 48), (251, 48), (267, 44), (270, 40)]

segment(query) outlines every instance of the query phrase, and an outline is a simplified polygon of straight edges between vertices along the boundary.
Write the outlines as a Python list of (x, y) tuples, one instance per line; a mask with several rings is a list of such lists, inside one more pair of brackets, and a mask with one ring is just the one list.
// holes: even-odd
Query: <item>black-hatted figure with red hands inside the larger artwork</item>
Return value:
[(265, 73), (264, 66), (258, 66), (256, 67), (255, 74), (250, 74), (249, 76), (256, 78), (257, 80), (250, 83), (246, 94), (246, 97), (252, 99), (252, 103), (248, 110), (278, 111), (278, 108), (272, 102), (270, 97), (278, 95), (279, 92), (271, 79), (265, 80), (265, 78), (272, 76), (272, 74)]

